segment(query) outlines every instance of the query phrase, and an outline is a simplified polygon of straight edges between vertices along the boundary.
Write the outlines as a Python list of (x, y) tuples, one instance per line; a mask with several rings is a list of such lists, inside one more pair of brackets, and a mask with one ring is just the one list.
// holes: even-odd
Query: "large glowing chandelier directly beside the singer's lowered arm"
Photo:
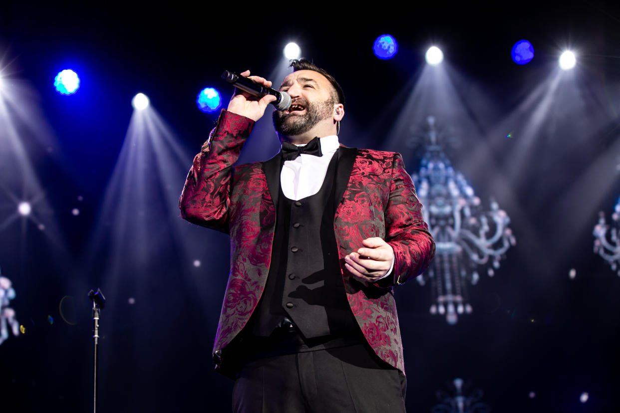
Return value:
[(436, 131), (435, 118), (428, 116), (427, 123), (425, 136), (410, 142), (423, 144), (425, 150), (420, 171), (411, 177), (436, 252), (431, 266), (417, 280), (420, 285), (431, 285), (430, 313), (456, 324), (459, 315), (473, 311), (467, 284), (477, 284), (479, 271), (493, 277), (500, 259), (516, 240), (508, 228), (506, 212), (494, 200), (489, 210), (483, 209), (463, 174), (452, 167), (444, 150), (447, 141)]

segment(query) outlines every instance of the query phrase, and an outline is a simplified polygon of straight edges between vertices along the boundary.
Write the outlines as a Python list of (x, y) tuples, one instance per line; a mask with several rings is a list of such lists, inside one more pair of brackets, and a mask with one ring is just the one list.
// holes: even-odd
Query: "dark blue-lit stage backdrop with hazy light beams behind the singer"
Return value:
[[(198, 91), (217, 87), (228, 100), (224, 69), (276, 76), (296, 41), (345, 90), (343, 144), (401, 152), (414, 173), (412, 130), (435, 115), (459, 142), (454, 167), (511, 218), (516, 246), (469, 289), (474, 312), (456, 325), (429, 313), (428, 286), (396, 289), (408, 410), (430, 412), (459, 377), (493, 412), (618, 411), (620, 277), (593, 253), (592, 229), (620, 195), (620, 14), (601, 2), (541, 3), (361, 14), (275, 2), (4, 5), (0, 269), (25, 333), (0, 346), (0, 410), (91, 409), (87, 292), (101, 287), (99, 411), (230, 411), (232, 381), (210, 357), (228, 237), (187, 224), (175, 205), (217, 116), (197, 109)], [(237, 18), (246, 12), (269, 17), (248, 24)], [(387, 61), (371, 49), (383, 33), (399, 41)], [(510, 59), (521, 38), (536, 53), (525, 66)], [(432, 44), (446, 56), (442, 77), (426, 72)], [(578, 63), (558, 74), (565, 46)], [(82, 81), (70, 97), (52, 85), (68, 67)], [(148, 139), (128, 132), (138, 92), (156, 111)], [(263, 119), (241, 160), (277, 150)], [(15, 214), (22, 200), (30, 217)]]

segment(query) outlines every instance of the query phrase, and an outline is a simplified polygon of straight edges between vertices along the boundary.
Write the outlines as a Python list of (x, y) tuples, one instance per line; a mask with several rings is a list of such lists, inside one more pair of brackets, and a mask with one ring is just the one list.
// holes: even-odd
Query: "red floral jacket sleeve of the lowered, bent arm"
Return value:
[(393, 158), (385, 220), (386, 241), (394, 249), (395, 261), (392, 274), (376, 283), (379, 287), (403, 284), (422, 274), (435, 255), (435, 241), (423, 220), (422, 204), (400, 154)]

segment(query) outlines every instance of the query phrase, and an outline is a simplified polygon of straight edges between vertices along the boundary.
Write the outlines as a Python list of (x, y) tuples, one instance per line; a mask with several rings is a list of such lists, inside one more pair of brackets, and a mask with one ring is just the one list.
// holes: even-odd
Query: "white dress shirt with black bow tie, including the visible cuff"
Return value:
[[(330, 160), (338, 150), (340, 142), (337, 135), (325, 136), (319, 139), (322, 156), (301, 154), (293, 160), (285, 160), (280, 172), (280, 185), (286, 198), (293, 201), (314, 195), (323, 186), (327, 167)], [(305, 146), (305, 144), (297, 145)], [(360, 248), (363, 245), (360, 245)], [(394, 269), (394, 255), (392, 253), (392, 265), (386, 275), (389, 276)]]

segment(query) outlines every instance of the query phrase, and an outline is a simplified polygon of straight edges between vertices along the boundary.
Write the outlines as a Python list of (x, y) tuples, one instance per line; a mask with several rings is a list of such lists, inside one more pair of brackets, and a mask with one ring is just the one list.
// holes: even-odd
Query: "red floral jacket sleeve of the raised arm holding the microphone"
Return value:
[(215, 129), (193, 160), (179, 199), (181, 217), (228, 233), (232, 165), (239, 159), (254, 121), (222, 110)]

